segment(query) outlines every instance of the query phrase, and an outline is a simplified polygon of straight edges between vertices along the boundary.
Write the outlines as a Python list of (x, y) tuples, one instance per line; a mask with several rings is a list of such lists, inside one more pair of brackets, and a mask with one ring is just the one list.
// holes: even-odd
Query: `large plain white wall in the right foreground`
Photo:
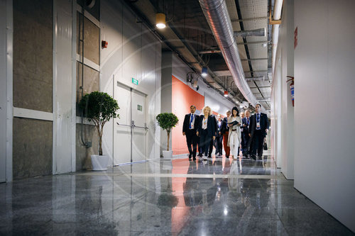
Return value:
[(355, 232), (355, 1), (295, 1), (295, 188)]

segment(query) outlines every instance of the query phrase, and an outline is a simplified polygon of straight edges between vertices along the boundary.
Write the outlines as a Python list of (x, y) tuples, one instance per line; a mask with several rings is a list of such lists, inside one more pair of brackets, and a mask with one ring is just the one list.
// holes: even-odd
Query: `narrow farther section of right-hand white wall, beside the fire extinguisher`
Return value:
[(290, 82), (294, 75), (293, 1), (285, 1), (279, 28), (278, 48), (273, 72), (273, 144), (276, 165), (286, 179), (294, 179), (294, 108), (290, 97)]

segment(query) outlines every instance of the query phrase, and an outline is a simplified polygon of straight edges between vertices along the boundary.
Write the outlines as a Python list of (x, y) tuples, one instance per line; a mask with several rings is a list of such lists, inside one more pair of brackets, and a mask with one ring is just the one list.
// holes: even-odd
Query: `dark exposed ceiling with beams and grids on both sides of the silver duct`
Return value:
[[(229, 100), (246, 101), (236, 86), (198, 0), (126, 1), (148, 27), (163, 41), (163, 50), (173, 50), (200, 73), (208, 67), (209, 76), (200, 77)], [(271, 97), (271, 30), (268, 26), (268, 0), (226, 0), (234, 31), (265, 28), (264, 36), (236, 36), (246, 82), (261, 105), (269, 110)], [(167, 28), (155, 28), (155, 13), (166, 15)]]

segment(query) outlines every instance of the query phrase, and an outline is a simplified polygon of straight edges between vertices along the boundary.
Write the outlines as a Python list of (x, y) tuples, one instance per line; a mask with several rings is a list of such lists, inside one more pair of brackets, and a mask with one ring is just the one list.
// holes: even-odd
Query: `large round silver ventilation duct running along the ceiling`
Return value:
[(226, 2), (224, 0), (200, 0), (200, 5), (236, 86), (238, 86), (244, 98), (252, 106), (255, 106), (257, 100), (253, 93), (251, 93), (244, 77)]

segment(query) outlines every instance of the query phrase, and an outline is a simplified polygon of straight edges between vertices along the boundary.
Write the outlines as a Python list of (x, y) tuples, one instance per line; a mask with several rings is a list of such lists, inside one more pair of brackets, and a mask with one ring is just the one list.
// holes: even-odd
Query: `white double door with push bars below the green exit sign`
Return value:
[(146, 160), (146, 94), (117, 82), (114, 99), (120, 108), (114, 119), (114, 165)]

